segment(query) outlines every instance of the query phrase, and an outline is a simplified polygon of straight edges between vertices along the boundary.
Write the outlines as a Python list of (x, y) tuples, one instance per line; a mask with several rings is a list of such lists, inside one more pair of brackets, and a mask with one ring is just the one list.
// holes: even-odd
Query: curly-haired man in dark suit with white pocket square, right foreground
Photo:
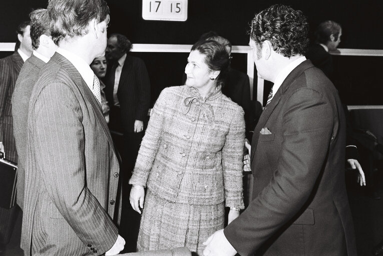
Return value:
[(255, 15), (258, 75), (274, 83), (254, 130), (253, 200), (207, 242), (205, 255), (356, 255), (344, 182), (344, 112), (331, 81), (306, 60), (308, 24), (272, 5)]

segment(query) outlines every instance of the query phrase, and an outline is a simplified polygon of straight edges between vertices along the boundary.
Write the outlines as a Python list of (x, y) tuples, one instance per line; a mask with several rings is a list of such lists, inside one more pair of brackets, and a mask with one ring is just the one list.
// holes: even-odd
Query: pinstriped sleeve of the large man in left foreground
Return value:
[[(61, 82), (48, 84), (29, 118), (38, 165), (47, 192), (85, 245), (103, 253), (115, 243), (117, 227), (87, 187), (82, 110), (73, 91)], [(107, 156), (106, 156), (107, 157)]]

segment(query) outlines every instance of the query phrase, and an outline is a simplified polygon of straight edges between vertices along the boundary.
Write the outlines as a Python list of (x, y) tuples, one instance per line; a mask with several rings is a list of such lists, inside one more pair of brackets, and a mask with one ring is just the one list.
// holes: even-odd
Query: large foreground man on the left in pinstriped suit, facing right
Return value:
[(105, 52), (104, 0), (50, 0), (59, 45), (33, 88), (27, 128), (22, 241), (25, 255), (114, 255), (119, 162), (90, 68)]

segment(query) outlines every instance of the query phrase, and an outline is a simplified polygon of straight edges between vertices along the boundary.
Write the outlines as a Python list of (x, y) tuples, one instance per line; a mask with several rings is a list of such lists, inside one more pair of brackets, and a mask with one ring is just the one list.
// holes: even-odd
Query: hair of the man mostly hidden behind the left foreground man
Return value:
[(31, 17), (31, 39), (34, 50), (39, 48), (40, 35), (51, 35), (49, 27), (49, 16), (47, 9), (39, 8), (33, 10), (29, 16)]

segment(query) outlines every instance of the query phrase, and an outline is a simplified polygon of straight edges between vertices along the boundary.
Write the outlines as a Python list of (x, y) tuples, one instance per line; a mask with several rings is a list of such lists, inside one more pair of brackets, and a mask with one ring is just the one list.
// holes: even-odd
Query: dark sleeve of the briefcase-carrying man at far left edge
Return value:
[[(0, 59), (0, 142), (4, 141), (3, 120), (5, 114), (5, 105), (10, 89), (10, 66), (5, 59)], [(7, 145), (5, 145), (7, 146)]]

